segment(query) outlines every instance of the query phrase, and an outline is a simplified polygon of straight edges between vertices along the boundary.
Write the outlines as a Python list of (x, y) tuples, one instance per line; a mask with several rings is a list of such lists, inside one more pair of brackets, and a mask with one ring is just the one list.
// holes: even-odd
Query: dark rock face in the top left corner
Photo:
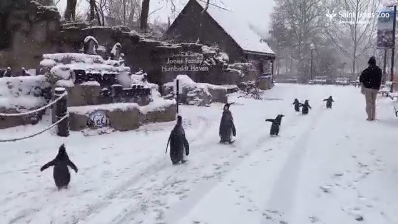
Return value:
[(0, 67), (38, 68), (42, 55), (56, 50), (60, 15), (55, 6), (26, 0), (0, 13), (0, 20)]

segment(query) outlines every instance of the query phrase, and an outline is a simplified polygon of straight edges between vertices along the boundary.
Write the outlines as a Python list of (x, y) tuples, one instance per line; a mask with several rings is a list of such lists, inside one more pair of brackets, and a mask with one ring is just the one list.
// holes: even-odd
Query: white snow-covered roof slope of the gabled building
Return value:
[[(205, 3), (203, 1), (195, 1), (204, 7)], [(207, 13), (244, 51), (275, 54), (266, 42), (260, 42), (260, 35), (250, 27), (248, 21), (243, 19), (243, 15), (240, 16), (231, 10), (228, 11), (213, 5), (209, 5)]]

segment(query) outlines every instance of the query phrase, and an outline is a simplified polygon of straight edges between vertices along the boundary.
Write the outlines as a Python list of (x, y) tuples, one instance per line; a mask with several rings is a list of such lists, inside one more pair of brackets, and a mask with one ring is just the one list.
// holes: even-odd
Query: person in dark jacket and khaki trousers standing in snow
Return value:
[(370, 57), (368, 68), (362, 71), (359, 77), (361, 83), (361, 92), (365, 95), (366, 120), (375, 120), (376, 118), (376, 98), (382, 83), (382, 70), (376, 65), (376, 58)]

